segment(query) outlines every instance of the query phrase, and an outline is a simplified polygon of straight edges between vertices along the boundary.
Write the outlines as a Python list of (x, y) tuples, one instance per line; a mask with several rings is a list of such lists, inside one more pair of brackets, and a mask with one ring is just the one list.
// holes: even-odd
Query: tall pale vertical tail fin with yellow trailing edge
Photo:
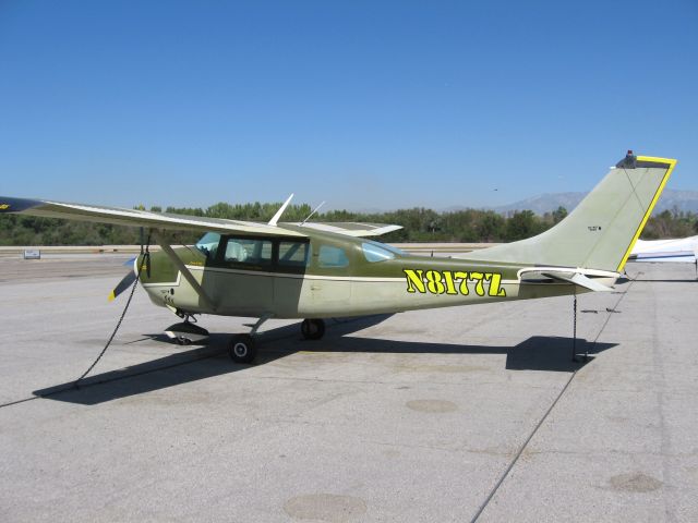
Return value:
[(621, 272), (675, 165), (673, 159), (628, 151), (552, 229), (464, 257)]

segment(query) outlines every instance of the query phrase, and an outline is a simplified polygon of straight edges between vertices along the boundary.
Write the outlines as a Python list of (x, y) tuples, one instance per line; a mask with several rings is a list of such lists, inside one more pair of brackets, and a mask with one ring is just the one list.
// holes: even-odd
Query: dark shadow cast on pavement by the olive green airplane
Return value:
[[(264, 331), (260, 335), (257, 358), (252, 366), (232, 363), (227, 354), (229, 336), (212, 333), (204, 346), (89, 376), (80, 382), (79, 388), (74, 387), (73, 381), (69, 381), (35, 390), (33, 393), (45, 399), (95, 405), (200, 379), (246, 370), (299, 351), (385, 354), (506, 354), (506, 368), (509, 370), (574, 372), (585, 365), (585, 363), (571, 360), (573, 339), (564, 337), (534, 336), (514, 346), (491, 346), (347, 336), (377, 325), (389, 316), (369, 316), (340, 320), (337, 324), (329, 321), (322, 342), (302, 340), (298, 325)], [(167, 338), (163, 335), (151, 335), (140, 341), (144, 340), (165, 342)], [(279, 341), (286, 341), (286, 343), (278, 343)], [(167, 342), (169, 343), (169, 341)], [(593, 355), (615, 345), (616, 343), (593, 343), (577, 339), (576, 353), (588, 353), (593, 357)]]

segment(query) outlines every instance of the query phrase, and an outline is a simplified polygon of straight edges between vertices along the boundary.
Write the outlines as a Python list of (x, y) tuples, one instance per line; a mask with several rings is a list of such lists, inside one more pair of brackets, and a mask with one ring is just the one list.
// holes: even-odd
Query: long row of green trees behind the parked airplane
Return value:
[[(207, 208), (167, 207), (165, 212), (227, 218), (232, 220), (268, 221), (280, 203), (227, 204), (218, 203)], [(134, 208), (145, 210), (142, 205)], [(161, 207), (149, 210), (161, 212)], [(302, 221), (312, 208), (308, 204), (290, 205), (282, 221)], [(567, 216), (564, 207), (552, 212), (535, 215), (531, 210), (513, 211), (506, 215), (493, 210), (464, 209), (437, 212), (416, 207), (387, 212), (354, 212), (332, 210), (316, 214), (311, 221), (363, 221), (402, 226), (399, 231), (381, 238), (387, 243), (397, 242), (514, 242), (550, 229)], [(698, 233), (698, 215), (674, 209), (652, 216), (642, 239), (683, 238)], [(173, 232), (170, 240), (177, 244), (194, 243), (201, 234)], [(137, 245), (141, 243), (139, 228), (104, 223), (77, 222), (32, 216), (0, 216), (0, 245)]]

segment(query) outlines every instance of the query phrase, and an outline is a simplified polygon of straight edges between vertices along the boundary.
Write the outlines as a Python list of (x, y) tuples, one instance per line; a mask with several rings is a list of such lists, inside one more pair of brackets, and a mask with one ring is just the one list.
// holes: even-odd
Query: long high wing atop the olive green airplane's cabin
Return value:
[[(286, 223), (294, 226), (284, 228), (268, 223), (254, 221), (227, 220), (222, 218), (208, 218), (200, 216), (171, 215), (167, 212), (152, 212), (147, 210), (124, 209), (119, 207), (105, 207), (97, 205), (67, 204), (46, 199), (11, 198), (0, 196), (0, 215), (19, 214), (43, 218), (62, 218), (67, 220), (94, 221), (98, 223), (112, 223), (116, 226), (146, 227), (163, 230), (198, 231), (231, 233), (243, 232), (264, 235), (308, 236), (300, 229), (300, 223)], [(306, 222), (302, 226), (349, 236), (375, 236), (386, 232), (401, 229), (399, 226), (383, 226), (377, 223), (316, 223)]]

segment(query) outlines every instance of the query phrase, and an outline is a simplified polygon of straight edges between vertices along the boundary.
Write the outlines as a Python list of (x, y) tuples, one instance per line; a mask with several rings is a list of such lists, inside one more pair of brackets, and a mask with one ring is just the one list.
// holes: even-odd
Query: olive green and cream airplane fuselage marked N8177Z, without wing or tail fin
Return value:
[(205, 246), (176, 254), (200, 290), (163, 253), (153, 253), (141, 281), (155, 304), (189, 314), (347, 317), (574, 292), (550, 279), (521, 281), (517, 264), (409, 256), (316, 231), (309, 239), (212, 234)]

